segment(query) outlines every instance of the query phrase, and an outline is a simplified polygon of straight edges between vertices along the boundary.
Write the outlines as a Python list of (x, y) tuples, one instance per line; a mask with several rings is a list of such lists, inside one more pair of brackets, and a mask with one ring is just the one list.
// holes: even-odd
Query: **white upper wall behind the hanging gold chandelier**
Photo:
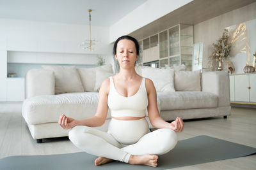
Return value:
[[(0, 48), (10, 51), (58, 53), (109, 53), (109, 28), (92, 26), (92, 38), (100, 40), (94, 52), (79, 44), (89, 37), (88, 25), (57, 24), (0, 18)], [(5, 39), (5, 44), (4, 40)]]

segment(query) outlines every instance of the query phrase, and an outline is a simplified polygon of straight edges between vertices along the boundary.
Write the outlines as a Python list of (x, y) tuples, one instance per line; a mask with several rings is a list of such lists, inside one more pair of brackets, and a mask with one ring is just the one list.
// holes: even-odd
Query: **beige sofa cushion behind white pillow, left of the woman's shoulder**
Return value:
[(86, 92), (93, 92), (95, 87), (95, 70), (100, 69), (113, 73), (112, 65), (106, 64), (104, 66), (93, 67), (93, 68), (77, 68), (78, 73), (81, 76), (84, 90)]

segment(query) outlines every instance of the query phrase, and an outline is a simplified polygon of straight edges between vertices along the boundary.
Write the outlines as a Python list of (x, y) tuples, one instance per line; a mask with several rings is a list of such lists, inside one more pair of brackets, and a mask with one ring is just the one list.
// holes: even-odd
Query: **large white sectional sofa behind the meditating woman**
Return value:
[[(95, 75), (95, 70), (93, 69), (94, 68), (90, 69), (92, 73), (90, 76), (92, 76), (92, 78), (93, 76), (97, 76), (97, 73)], [(145, 72), (145, 70), (142, 71), (142, 74), (143, 72)], [(146, 70), (144, 75), (148, 74), (150, 78), (151, 72)], [(154, 70), (154, 72), (156, 71)], [(81, 76), (82, 73), (79, 73)], [(180, 82), (184, 82), (180, 84), (180, 86), (186, 86), (186, 84), (189, 83), (188, 80), (182, 80), (182, 78), (187, 78), (179, 76), (179, 73), (187, 74), (188, 72), (174, 73), (173, 71), (172, 74), (174, 78), (172, 81), (174, 82), (172, 85), (174, 85), (176, 91), (166, 90), (168, 86), (165, 86), (162, 92), (157, 92), (157, 106), (164, 120), (174, 120), (176, 117), (182, 117), (184, 120), (219, 116), (227, 118), (227, 115), (230, 115), (228, 73), (199, 73), (200, 80), (196, 81), (199, 81), (200, 89), (197, 89), (197, 91), (193, 89), (192, 91), (191, 89), (190, 91), (180, 91), (178, 87)], [(166, 78), (166, 75), (162, 77)], [(157, 78), (159, 78), (159, 76), (157, 76)], [(81, 79), (83, 81), (83, 76), (81, 76)], [(64, 130), (58, 125), (58, 118), (61, 114), (65, 113), (67, 117), (83, 119), (92, 117), (97, 110), (97, 91), (56, 94), (56, 81), (56, 73), (52, 70), (32, 69), (26, 74), (26, 99), (22, 106), (22, 116), (24, 120), (26, 120), (29, 131), (32, 137), (36, 139), (37, 143), (42, 143), (42, 139), (44, 138), (68, 136), (68, 130)], [(161, 82), (156, 80), (156, 76), (153, 81), (158, 90), (158, 83), (161, 84)], [(95, 80), (92, 80), (91, 83), (95, 85)], [(86, 90), (86, 88), (84, 89)], [(110, 113), (108, 113), (105, 124), (97, 128), (107, 131), (110, 119), (111, 116)], [(148, 123), (150, 124), (149, 121)], [(150, 128), (152, 128), (151, 124)]]

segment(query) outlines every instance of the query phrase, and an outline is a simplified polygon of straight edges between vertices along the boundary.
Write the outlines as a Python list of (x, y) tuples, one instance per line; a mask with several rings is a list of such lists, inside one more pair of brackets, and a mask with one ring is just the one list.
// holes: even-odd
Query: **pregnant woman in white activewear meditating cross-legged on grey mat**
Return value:
[[(95, 166), (113, 160), (129, 164), (157, 166), (157, 155), (169, 152), (177, 143), (176, 132), (183, 131), (182, 118), (165, 122), (157, 110), (156, 89), (152, 80), (135, 71), (139, 56), (138, 41), (122, 36), (115, 41), (113, 54), (120, 71), (102, 82), (99, 103), (94, 117), (84, 120), (61, 115), (59, 124), (70, 129), (68, 137), (77, 148), (97, 155)], [(111, 110), (108, 132), (92, 127), (104, 124)], [(150, 132), (145, 119), (157, 128)]]

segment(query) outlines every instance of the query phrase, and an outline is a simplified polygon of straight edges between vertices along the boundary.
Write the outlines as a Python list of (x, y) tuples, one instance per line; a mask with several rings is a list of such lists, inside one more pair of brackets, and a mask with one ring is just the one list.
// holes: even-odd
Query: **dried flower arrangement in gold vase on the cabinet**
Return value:
[[(211, 70), (222, 71), (224, 64), (223, 60), (228, 57), (230, 53), (230, 43), (228, 43), (228, 30), (225, 29), (218, 42), (212, 44), (213, 52), (209, 57), (209, 63), (211, 64)], [(213, 68), (214, 62), (216, 62), (216, 67)]]

